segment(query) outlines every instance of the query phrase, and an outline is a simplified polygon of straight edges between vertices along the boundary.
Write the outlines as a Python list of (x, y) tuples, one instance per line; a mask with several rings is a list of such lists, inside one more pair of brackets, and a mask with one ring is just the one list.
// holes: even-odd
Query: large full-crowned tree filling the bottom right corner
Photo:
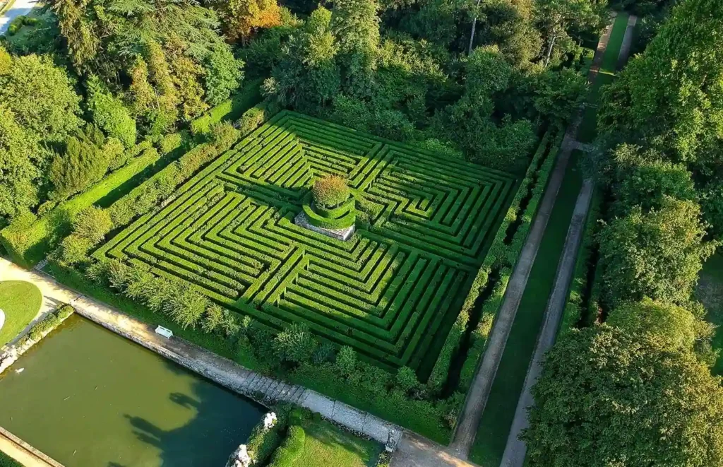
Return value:
[(547, 354), (523, 434), (531, 467), (723, 465), (723, 388), (683, 348), (616, 327)]

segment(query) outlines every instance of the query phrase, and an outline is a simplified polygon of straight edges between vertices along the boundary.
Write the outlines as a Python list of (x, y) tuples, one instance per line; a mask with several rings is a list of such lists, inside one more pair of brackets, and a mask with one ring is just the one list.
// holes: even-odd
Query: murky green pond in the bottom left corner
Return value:
[(223, 467), (263, 413), (77, 315), (0, 376), (0, 426), (67, 467)]

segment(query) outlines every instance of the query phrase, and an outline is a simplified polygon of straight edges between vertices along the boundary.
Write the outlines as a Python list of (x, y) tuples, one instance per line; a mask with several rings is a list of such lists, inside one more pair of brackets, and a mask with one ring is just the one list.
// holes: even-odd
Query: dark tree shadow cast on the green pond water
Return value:
[(138, 440), (160, 451), (159, 466), (223, 466), (264, 413), (251, 400), (207, 380), (193, 382), (189, 393), (170, 393), (168, 399), (179, 411), (191, 411), (180, 427), (164, 429), (143, 416), (124, 415)]

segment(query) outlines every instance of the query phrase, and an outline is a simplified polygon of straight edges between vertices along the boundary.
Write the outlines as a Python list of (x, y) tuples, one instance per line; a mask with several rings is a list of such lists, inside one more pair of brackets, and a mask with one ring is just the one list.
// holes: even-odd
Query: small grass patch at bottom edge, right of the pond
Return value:
[(374, 467), (383, 449), (325, 420), (305, 420), (301, 427), (307, 435), (294, 467)]

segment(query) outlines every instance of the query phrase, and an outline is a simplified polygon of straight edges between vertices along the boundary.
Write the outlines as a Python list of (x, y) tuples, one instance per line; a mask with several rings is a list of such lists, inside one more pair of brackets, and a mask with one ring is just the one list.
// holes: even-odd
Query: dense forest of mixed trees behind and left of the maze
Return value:
[[(50, 1), (0, 51), (0, 218), (43, 213), (261, 78), (268, 106), (524, 170), (605, 1)], [(22, 36), (22, 37), (21, 37)], [(471, 53), (467, 53), (471, 49)]]

